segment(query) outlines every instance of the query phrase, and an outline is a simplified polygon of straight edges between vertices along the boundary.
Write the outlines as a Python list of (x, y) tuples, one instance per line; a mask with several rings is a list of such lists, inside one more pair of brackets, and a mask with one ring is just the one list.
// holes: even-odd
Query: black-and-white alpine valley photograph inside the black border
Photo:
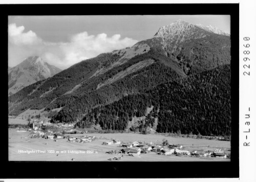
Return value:
[(8, 16), (8, 160), (230, 162), (230, 15)]

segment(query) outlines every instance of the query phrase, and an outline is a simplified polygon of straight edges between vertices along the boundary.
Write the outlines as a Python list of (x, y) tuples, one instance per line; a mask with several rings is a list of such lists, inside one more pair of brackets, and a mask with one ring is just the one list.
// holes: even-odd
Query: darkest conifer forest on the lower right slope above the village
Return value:
[(152, 127), (157, 119), (158, 132), (230, 135), (230, 99), (230, 65), (223, 65), (94, 108), (76, 126), (91, 123), (102, 129), (125, 130), (135, 117), (145, 116), (146, 108), (154, 106), (137, 127)]

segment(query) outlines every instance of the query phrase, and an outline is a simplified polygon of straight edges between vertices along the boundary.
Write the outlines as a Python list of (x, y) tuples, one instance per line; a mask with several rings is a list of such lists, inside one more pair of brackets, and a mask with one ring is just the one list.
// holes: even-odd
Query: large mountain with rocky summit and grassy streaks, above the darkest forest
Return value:
[(9, 97), (9, 115), (44, 108), (54, 122), (79, 122), (99, 106), (229, 63), (229, 36), (179, 20), (131, 48), (81, 61), (23, 88)]

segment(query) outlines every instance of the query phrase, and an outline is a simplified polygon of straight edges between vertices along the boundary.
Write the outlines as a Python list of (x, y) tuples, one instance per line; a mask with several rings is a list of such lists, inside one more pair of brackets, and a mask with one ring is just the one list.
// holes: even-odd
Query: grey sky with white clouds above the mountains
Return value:
[(230, 33), (229, 15), (9, 16), (8, 65), (40, 56), (60, 69), (101, 53), (132, 47), (182, 19)]

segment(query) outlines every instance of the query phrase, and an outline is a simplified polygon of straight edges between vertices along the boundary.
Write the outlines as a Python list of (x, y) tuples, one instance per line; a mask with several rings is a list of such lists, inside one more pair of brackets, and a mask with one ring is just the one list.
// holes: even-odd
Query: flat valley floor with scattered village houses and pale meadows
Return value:
[[(90, 159), (92, 161), (138, 161), (140, 159), (142, 161), (230, 160), (230, 148), (224, 147), (221, 143), (225, 142), (225, 146), (228, 146), (226, 145), (227, 141), (218, 141), (221, 145), (211, 146), (210, 143), (217, 143), (217, 141), (208, 140), (209, 145), (203, 146), (198, 144), (200, 141), (206, 139), (188, 139), (188, 141), (194, 140), (191, 146), (191, 144), (188, 145), (188, 142), (183, 138), (176, 139), (159, 134), (142, 135), (138, 133), (89, 134), (87, 131), (83, 132), (75, 129), (73, 124), (52, 124), (42, 121), (31, 122), (31, 128), (10, 128), (9, 130), (11, 130), (12, 133), (20, 134), (19, 140), (26, 140), (28, 143), (35, 142), (37, 145), (40, 144), (40, 150), (44, 150), (46, 153), (41, 152), (44, 153), (44, 155), (41, 154), (41, 156), (40, 154), (38, 155), (38, 153), (33, 154), (37, 156), (36, 158), (38, 158), (38, 160), (42, 160), (43, 157), (48, 154), (52, 155), (50, 161), (61, 161), (62, 159), (59, 156), (65, 154), (72, 155), (69, 159), (70, 161), (83, 161), (85, 159), (80, 155), (78, 156), (78, 154), (81, 153), (87, 153), (87, 156), (85, 156), (87, 157), (86, 161), (90, 161)], [(125, 137), (125, 135), (129, 137)], [(10, 145), (12, 145), (12, 136), (9, 137)], [(108, 136), (112, 138), (110, 139)], [(172, 143), (169, 143), (170, 141), (172, 141)], [(173, 141), (177, 141), (177, 143), (173, 143)], [(31, 145), (28, 147), (24, 142), (22, 144), (24, 144), (23, 150), (32, 148)], [(18, 146), (20, 146), (20, 144)], [(17, 149), (20, 150), (21, 148)], [(36, 150), (36, 145), (32, 149)], [(49, 152), (58, 150), (61, 152)], [(71, 150), (74, 150), (74, 152), (62, 152)], [(17, 158), (15, 156), (25, 155), (20, 152), (14, 155), (13, 152), (17, 153), (17, 151), (12, 150), (12, 155), (10, 155), (14, 157), (14, 160)], [(90, 156), (88, 156), (89, 153), (91, 153)], [(24, 160), (29, 159), (24, 156), (22, 158)], [(67, 160), (68, 159), (65, 158), (65, 161)]]

